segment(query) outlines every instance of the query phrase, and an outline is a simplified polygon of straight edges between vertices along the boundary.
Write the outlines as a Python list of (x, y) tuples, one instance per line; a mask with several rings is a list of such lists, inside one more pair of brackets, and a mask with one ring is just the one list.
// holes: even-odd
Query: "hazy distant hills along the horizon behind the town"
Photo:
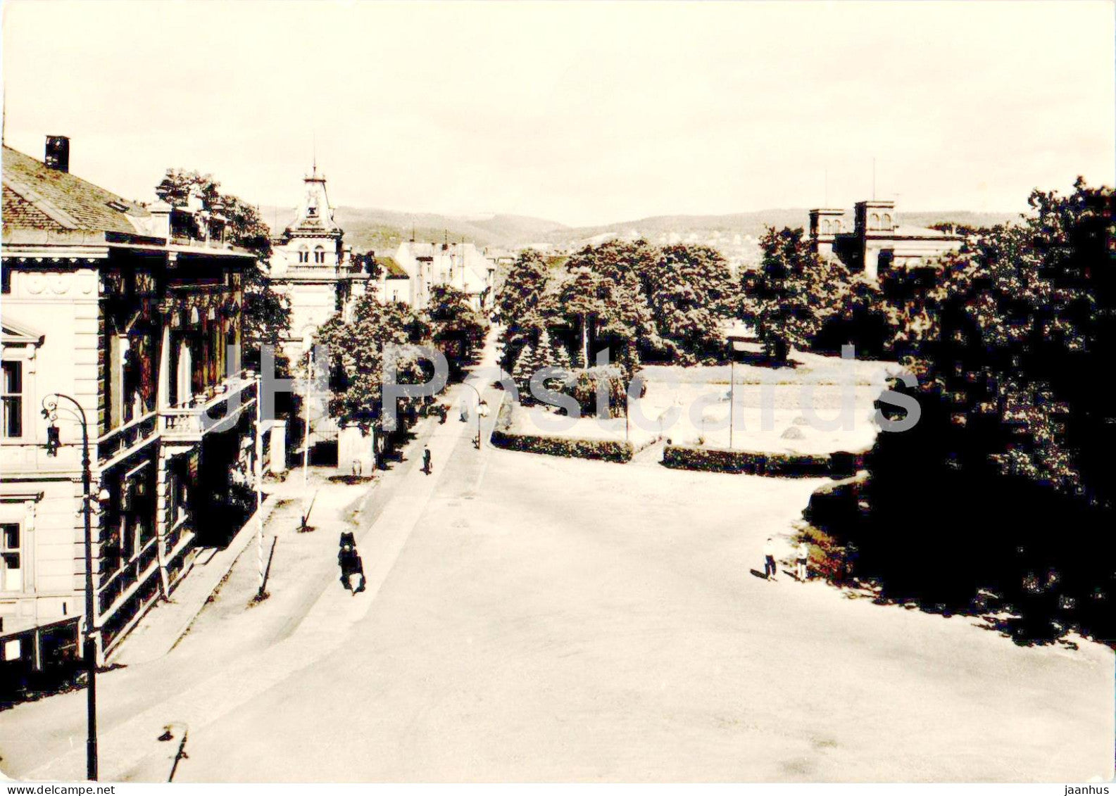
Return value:
[[(292, 208), (261, 207), (263, 220), (278, 233), (290, 222)], [(849, 208), (852, 213), (852, 208)], [(639, 235), (652, 242), (677, 235), (682, 241), (728, 241), (735, 235), (760, 237), (768, 226), (802, 226), (809, 223), (805, 207), (761, 210), (725, 215), (658, 215), (598, 226), (566, 226), (556, 221), (526, 215), (494, 214), (477, 216), (439, 213), (405, 213), (374, 207), (336, 208), (337, 223), (345, 230), (345, 241), (356, 251), (391, 252), (401, 241), (466, 241), (479, 246), (519, 249), (531, 243), (550, 243), (559, 249), (584, 245), (595, 239)], [(899, 223), (930, 226), (934, 223), (991, 226), (1019, 219), (1013, 213), (974, 213), (972, 211), (899, 210)], [(739, 244), (737, 244), (739, 245)], [(734, 246), (735, 247), (735, 246)], [(747, 249), (748, 246), (745, 244)]]

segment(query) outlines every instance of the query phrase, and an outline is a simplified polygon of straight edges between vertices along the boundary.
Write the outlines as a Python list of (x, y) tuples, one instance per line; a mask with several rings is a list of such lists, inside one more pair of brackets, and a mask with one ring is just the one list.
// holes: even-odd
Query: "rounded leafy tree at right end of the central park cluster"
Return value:
[(666, 246), (646, 269), (644, 285), (658, 336), (676, 360), (693, 363), (723, 356), (721, 324), (735, 309), (737, 288), (719, 252)]

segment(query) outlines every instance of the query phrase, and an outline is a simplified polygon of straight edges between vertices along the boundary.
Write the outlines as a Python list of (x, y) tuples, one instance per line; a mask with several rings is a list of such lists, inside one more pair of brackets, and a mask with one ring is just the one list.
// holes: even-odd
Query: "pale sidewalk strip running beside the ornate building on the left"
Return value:
[[(455, 405), (466, 395), (465, 390), (452, 386), (444, 399)], [(489, 388), (482, 392), (491, 400)], [(270, 550), (271, 538), (278, 540), (268, 584), (270, 596), (262, 602), (251, 600), (258, 588), (256, 560), (254, 555), (241, 555), (222, 579), (224, 582), (213, 601), (206, 604), (209, 595), (204, 598), (205, 610), (195, 613), (187, 625), (190, 632), (170, 654), (131, 668), (133, 677), (148, 667), (153, 676), (163, 672), (174, 676), (183, 670), (200, 676), (191, 677), (164, 698), (102, 726), (104, 777), (116, 780), (165, 777), (166, 750), (152, 739), (163, 732), (169, 719), (187, 725), (193, 737), (210, 722), (251, 702), (344, 644), (353, 627), (372, 610), (381, 585), (426, 509), (454, 452), (468, 448), (470, 455), (479, 454), (482, 459), (496, 453), (487, 441), (493, 420), (492, 416), (485, 418), (485, 441), (480, 452), (472, 449), (475, 429), (472, 424), (454, 420), (439, 424), (433, 418), (420, 421), (404, 460), (378, 476), (371, 489), (368, 484), (330, 483), (324, 472), (311, 474), (318, 487), (309, 522), (315, 527), (311, 533), (296, 530), (301, 512), (298, 499), (281, 504), (277, 501), (264, 526), (266, 551)], [(424, 443), (433, 455), (431, 475), (421, 469)], [(482, 477), (483, 468), (477, 482)], [(288, 477), (285, 487), (290, 491), (285, 488), (285, 494), (277, 494), (276, 498), (300, 497), (301, 474)], [(337, 537), (341, 527), (356, 533), (364, 559), (366, 590), (356, 595), (338, 582)], [(251, 550), (252, 540), (254, 531), (248, 534), (241, 550)], [(186, 582), (189, 577), (183, 588)], [(199, 586), (201, 591), (204, 590)], [(196, 605), (196, 598), (192, 604)], [(181, 620), (182, 615), (174, 621), (164, 620), (153, 611), (150, 634), (157, 633), (160, 641), (142, 642), (147, 654), (165, 647), (166, 640), (182, 628)], [(161, 627), (156, 631), (155, 625), (164, 621), (173, 630)], [(137, 649), (140, 644), (137, 641)], [(128, 653), (138, 659), (140, 652)], [(112, 682), (113, 678), (106, 677), (106, 690)], [(128, 682), (134, 688), (134, 681)], [(59, 749), (19, 775), (29, 779), (79, 778), (84, 755), (79, 746), (66, 751)]]

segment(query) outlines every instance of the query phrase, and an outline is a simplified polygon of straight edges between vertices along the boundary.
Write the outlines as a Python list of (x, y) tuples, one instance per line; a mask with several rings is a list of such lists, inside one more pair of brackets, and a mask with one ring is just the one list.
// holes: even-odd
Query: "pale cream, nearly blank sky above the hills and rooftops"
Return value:
[(1114, 182), (1114, 9), (6, 0), (4, 142), (144, 201), (186, 167), (294, 206), (316, 155), (334, 205), (570, 225), (1017, 212)]

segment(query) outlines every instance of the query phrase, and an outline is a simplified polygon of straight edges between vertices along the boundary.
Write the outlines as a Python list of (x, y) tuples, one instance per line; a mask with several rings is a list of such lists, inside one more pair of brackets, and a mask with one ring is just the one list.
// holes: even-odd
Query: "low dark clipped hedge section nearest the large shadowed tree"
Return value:
[(667, 445), (663, 464), (677, 469), (711, 473), (747, 473), (788, 478), (830, 476), (845, 478), (864, 466), (866, 452), (833, 454), (787, 454), (730, 450), (691, 445)]

